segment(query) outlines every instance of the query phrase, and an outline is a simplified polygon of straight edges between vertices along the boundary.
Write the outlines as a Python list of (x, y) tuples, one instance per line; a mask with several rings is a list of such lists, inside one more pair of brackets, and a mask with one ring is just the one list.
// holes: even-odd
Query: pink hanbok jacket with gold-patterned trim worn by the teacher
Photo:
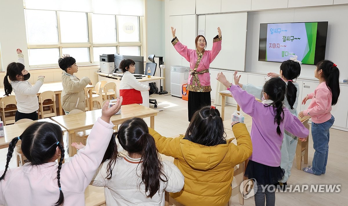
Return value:
[(188, 79), (188, 89), (193, 92), (210, 92), (209, 65), (213, 62), (221, 50), (222, 37), (214, 37), (212, 50), (204, 50), (199, 53), (198, 50), (188, 49), (176, 37), (172, 44), (176, 51), (190, 62), (190, 73)]

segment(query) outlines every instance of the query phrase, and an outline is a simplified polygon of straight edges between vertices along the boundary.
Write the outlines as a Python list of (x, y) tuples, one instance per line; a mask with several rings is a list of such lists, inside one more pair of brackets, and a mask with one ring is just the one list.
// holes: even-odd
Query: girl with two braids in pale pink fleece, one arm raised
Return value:
[[(110, 117), (120, 108), (122, 97), (102, 108), (88, 136), (88, 144), (64, 164), (61, 127), (50, 122), (34, 122), (9, 144), (5, 170), (0, 172), (0, 205), (85, 205), (84, 191), (103, 159), (112, 135)], [(9, 169), (16, 143), (29, 163)], [(58, 159), (58, 164), (56, 160)], [(18, 193), (21, 197), (18, 197)]]

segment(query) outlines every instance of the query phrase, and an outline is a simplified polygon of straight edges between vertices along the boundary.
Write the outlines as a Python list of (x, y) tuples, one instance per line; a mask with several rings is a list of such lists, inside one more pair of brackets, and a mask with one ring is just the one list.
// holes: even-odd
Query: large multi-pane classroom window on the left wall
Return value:
[(57, 66), (63, 54), (80, 65), (98, 64), (101, 54), (141, 55), (143, 17), (24, 10), (31, 68)]

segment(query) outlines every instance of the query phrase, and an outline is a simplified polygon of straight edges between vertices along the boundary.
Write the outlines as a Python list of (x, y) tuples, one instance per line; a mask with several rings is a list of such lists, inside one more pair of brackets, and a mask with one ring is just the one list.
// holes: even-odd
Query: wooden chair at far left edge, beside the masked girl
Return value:
[(17, 101), (15, 95), (4, 96), (0, 102), (3, 125), (15, 123)]

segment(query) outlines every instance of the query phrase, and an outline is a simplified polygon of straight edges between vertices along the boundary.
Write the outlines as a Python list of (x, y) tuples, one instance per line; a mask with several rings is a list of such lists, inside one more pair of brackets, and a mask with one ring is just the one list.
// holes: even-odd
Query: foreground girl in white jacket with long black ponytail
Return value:
[(145, 121), (133, 118), (124, 121), (112, 135), (91, 184), (105, 187), (106, 205), (164, 206), (164, 191), (179, 192), (184, 177), (173, 163), (160, 160)]

